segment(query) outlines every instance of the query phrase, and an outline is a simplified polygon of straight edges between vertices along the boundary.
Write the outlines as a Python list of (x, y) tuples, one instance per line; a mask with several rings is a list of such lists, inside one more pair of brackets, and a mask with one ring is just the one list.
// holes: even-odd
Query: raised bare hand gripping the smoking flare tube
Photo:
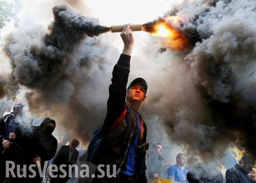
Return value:
[(121, 38), (123, 39), (123, 54), (131, 55), (133, 50), (133, 31), (129, 28), (130, 24), (125, 24), (121, 32)]

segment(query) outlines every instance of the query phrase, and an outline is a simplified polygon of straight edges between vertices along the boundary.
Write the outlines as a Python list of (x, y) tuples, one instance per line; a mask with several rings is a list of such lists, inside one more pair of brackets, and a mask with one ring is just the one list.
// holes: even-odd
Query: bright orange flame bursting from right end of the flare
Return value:
[(168, 16), (142, 25), (142, 30), (152, 35), (167, 38), (166, 45), (172, 49), (182, 50), (189, 44), (189, 39), (177, 27), (181, 17)]

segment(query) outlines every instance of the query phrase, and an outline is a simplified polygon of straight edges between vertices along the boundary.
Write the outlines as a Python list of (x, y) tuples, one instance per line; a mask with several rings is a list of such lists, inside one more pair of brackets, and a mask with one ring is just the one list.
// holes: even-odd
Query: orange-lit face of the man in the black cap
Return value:
[(146, 94), (144, 88), (139, 84), (134, 84), (128, 91), (127, 97), (130, 101), (143, 102), (146, 100)]

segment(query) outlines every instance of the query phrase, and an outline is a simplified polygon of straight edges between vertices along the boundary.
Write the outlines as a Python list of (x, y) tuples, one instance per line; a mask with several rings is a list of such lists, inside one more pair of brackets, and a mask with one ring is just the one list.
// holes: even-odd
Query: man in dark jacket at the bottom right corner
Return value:
[(252, 171), (254, 161), (249, 155), (245, 155), (239, 161), (239, 165), (226, 171), (226, 183), (256, 183), (256, 175)]

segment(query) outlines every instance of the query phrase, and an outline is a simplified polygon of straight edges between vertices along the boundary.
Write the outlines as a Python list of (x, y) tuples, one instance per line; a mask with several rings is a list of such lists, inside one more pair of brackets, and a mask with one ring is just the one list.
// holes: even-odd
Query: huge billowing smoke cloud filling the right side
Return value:
[(184, 1), (166, 15), (181, 16), (180, 30), (198, 41), (150, 79), (145, 114), (162, 118), (170, 138), (195, 154), (234, 143), (256, 155), (256, 1)]

